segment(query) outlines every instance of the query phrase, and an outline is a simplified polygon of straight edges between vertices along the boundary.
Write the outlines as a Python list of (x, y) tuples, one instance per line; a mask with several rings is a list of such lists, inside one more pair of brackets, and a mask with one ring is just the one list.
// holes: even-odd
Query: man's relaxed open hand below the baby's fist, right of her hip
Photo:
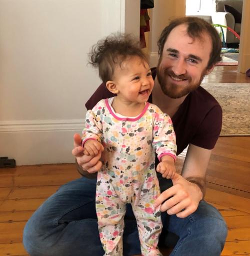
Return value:
[(187, 181), (177, 173), (171, 180), (173, 186), (156, 198), (154, 207), (160, 205), (160, 211), (185, 218), (197, 209), (202, 193), (196, 184)]

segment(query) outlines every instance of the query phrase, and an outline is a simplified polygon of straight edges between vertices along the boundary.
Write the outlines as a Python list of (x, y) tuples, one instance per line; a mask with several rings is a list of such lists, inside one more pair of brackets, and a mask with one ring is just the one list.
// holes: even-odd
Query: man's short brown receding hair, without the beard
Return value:
[(164, 44), (170, 32), (175, 27), (182, 24), (187, 25), (187, 35), (192, 39), (202, 40), (204, 33), (206, 33), (210, 37), (212, 43), (212, 50), (210, 52), (210, 58), (206, 67), (207, 69), (211, 68), (216, 62), (221, 60), (220, 53), (222, 45), (218, 32), (211, 24), (197, 17), (183, 17), (174, 19), (170, 22), (168, 26), (163, 29), (157, 42), (158, 54), (160, 59)]

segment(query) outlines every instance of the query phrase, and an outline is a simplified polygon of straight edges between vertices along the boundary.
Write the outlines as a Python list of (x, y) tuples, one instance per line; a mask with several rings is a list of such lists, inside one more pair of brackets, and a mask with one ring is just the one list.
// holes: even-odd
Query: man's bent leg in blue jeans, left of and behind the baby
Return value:
[[(80, 178), (61, 186), (30, 217), (23, 244), (31, 256), (101, 256), (95, 212), (96, 180)], [(139, 247), (135, 220), (125, 220), (123, 243)]]

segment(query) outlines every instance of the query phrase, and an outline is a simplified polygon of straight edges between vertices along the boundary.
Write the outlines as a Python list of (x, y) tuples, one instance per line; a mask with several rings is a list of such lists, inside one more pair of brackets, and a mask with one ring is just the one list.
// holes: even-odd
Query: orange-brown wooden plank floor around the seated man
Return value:
[[(204, 82), (250, 83), (250, 78), (235, 70), (216, 67)], [(177, 165), (182, 162), (179, 157)], [(223, 256), (250, 255), (249, 176), (250, 137), (220, 137), (208, 166), (205, 199), (220, 211), (228, 226)], [(28, 255), (21, 243), (25, 222), (61, 184), (78, 177), (73, 164), (0, 169), (0, 256)]]

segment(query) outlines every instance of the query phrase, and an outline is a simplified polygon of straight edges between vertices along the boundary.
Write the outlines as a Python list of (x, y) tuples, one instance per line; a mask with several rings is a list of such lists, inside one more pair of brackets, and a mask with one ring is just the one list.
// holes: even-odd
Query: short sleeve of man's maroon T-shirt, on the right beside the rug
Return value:
[(197, 127), (196, 134), (190, 144), (204, 148), (213, 149), (219, 137), (222, 125), (222, 109), (219, 104), (214, 105), (204, 116)]

